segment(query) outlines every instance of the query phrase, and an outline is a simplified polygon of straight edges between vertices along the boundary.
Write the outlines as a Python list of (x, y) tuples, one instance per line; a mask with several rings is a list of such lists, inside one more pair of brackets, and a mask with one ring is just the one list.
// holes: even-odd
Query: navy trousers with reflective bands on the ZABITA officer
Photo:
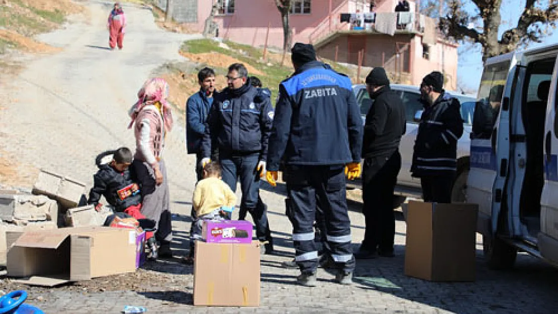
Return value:
[(301, 272), (314, 273), (318, 268), (314, 233), (318, 205), (323, 211), (325, 238), (331, 258), (340, 269), (353, 272), (355, 261), (351, 248), (344, 166), (289, 165), (285, 167), (284, 178), (292, 205), (290, 219), (295, 262)]

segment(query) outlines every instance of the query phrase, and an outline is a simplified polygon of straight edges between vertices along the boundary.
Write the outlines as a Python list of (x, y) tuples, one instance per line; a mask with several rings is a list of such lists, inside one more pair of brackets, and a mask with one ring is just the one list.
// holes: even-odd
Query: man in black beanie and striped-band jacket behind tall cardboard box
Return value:
[(445, 94), (444, 75), (434, 71), (422, 79), (425, 110), (413, 151), (411, 174), (420, 178), (425, 202), (450, 203), (457, 171), (457, 141), (463, 119), (456, 98)]

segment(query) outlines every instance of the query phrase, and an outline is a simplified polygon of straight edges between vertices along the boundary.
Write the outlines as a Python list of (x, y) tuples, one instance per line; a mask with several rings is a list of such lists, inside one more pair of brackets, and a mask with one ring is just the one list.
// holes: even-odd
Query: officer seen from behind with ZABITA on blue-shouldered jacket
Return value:
[(350, 284), (355, 262), (344, 170), (347, 166), (349, 178), (360, 175), (360, 109), (350, 79), (316, 61), (312, 45), (297, 42), (292, 63), (295, 74), (279, 85), (266, 179), (275, 184), (283, 160), (295, 261), (301, 270), (297, 282), (316, 284), (318, 249), (312, 226), (319, 202), (331, 258), (339, 268), (335, 279)]

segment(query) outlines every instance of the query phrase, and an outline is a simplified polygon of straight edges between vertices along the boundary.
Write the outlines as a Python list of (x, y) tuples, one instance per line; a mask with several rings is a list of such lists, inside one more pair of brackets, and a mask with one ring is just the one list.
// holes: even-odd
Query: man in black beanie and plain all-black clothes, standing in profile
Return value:
[(376, 254), (393, 256), (395, 215), (393, 190), (401, 170), (399, 143), (405, 134), (405, 106), (389, 88), (383, 67), (374, 67), (366, 77), (366, 90), (374, 104), (366, 114), (362, 157), (362, 213), (366, 229), (356, 258)]

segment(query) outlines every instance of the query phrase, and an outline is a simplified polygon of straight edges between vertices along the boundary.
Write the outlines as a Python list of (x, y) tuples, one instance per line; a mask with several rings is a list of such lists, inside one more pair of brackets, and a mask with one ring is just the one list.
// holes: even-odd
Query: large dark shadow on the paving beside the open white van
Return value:
[[(354, 287), (373, 289), (457, 314), (554, 313), (558, 300), (558, 269), (520, 254), (507, 272), (488, 269), (477, 250), (476, 282), (429, 282), (405, 276), (405, 246), (393, 258), (357, 260)], [(521, 297), (518, 296), (521, 293)], [(518, 301), (517, 299), (521, 299)]]

